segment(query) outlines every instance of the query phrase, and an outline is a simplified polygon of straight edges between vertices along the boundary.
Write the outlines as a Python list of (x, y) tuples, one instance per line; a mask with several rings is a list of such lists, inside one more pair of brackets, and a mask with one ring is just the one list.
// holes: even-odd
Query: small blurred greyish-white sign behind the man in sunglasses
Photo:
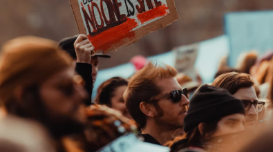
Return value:
[(174, 68), (178, 70), (178, 73), (185, 73), (185, 75), (188, 75), (194, 81), (196, 81), (194, 64), (196, 63), (198, 48), (199, 44), (191, 44), (173, 48), (173, 54), (175, 57)]

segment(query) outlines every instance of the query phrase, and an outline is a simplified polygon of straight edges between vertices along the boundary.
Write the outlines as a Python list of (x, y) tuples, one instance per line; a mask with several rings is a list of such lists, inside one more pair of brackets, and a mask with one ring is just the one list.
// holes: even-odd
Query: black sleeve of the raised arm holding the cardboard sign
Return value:
[(75, 70), (79, 75), (82, 76), (85, 82), (85, 88), (88, 92), (88, 99), (84, 101), (86, 106), (90, 106), (92, 104), (92, 92), (93, 92), (93, 77), (92, 77), (92, 65), (86, 63), (77, 63)]

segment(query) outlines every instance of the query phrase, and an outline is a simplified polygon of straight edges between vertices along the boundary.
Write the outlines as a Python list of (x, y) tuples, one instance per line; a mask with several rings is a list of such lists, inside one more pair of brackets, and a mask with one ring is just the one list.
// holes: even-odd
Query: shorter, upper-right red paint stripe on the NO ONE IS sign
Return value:
[(157, 8), (153, 8), (152, 10), (148, 10), (146, 12), (142, 12), (137, 15), (138, 19), (141, 23), (145, 23), (146, 21), (150, 21), (152, 19), (156, 19), (156, 17), (162, 17), (167, 15), (167, 11), (169, 8), (166, 4), (162, 6), (158, 6)]

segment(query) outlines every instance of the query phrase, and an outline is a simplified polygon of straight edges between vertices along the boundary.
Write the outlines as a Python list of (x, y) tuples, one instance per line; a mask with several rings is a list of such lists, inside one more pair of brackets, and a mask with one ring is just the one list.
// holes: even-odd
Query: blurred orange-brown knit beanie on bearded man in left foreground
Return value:
[(10, 101), (17, 86), (42, 84), (72, 66), (72, 58), (57, 49), (57, 42), (39, 37), (18, 37), (3, 45), (0, 59), (0, 99)]

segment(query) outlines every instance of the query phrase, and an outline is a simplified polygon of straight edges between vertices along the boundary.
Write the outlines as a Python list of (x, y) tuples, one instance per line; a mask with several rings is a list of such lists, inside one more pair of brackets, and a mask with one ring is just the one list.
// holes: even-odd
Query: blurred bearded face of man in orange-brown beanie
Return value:
[(70, 133), (81, 128), (84, 116), (84, 90), (81, 77), (69, 68), (50, 77), (41, 84), (39, 96), (45, 109), (45, 117), (55, 133)]

